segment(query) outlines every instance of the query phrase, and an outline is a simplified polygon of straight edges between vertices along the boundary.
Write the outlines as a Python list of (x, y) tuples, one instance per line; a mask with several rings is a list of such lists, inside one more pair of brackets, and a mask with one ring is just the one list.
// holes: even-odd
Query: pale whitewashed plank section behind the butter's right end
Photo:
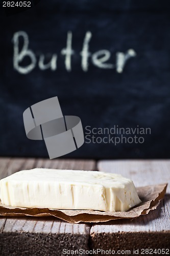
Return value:
[(170, 160), (103, 160), (98, 162), (98, 169), (122, 174), (132, 179), (135, 186), (170, 182)]

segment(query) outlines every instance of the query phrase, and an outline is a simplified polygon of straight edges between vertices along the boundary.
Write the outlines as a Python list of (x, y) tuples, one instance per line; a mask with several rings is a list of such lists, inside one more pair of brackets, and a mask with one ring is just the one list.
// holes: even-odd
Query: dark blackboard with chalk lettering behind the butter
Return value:
[[(22, 114), (58, 96), (85, 135), (63, 157), (169, 158), (168, 1), (41, 0), (13, 15), (1, 8), (0, 22), (1, 156), (48, 157), (26, 137)], [(89, 130), (99, 143), (89, 143)], [(115, 145), (109, 136), (126, 138)]]

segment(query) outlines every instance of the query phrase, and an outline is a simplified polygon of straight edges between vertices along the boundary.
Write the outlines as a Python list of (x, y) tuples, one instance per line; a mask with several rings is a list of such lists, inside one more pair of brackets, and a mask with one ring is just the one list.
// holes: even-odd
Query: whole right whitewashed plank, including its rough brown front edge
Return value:
[[(170, 182), (170, 161), (168, 160), (104, 160), (99, 161), (98, 169), (103, 172), (122, 174), (132, 179), (136, 186)], [(168, 187), (165, 199), (149, 215), (132, 221), (117, 220), (104, 225), (93, 225), (90, 230), (93, 248), (170, 249), (169, 199)]]

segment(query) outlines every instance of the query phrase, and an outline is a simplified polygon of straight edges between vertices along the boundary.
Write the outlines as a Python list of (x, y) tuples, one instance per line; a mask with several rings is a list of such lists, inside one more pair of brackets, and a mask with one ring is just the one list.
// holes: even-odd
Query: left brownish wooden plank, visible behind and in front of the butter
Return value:
[[(94, 170), (95, 161), (0, 158), (1, 178), (35, 167)], [(0, 255), (62, 255), (64, 248), (88, 249), (89, 233), (90, 225), (57, 218), (0, 218)]]

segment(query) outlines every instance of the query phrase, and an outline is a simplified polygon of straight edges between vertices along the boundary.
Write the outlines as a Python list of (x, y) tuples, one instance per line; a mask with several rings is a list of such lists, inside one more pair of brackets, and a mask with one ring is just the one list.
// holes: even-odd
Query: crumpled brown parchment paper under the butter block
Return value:
[(167, 184), (137, 187), (137, 193), (141, 199), (138, 206), (128, 211), (99, 211), (99, 210), (59, 210), (48, 208), (21, 208), (3, 205), (0, 201), (0, 216), (6, 217), (45, 217), (53, 216), (69, 223), (79, 222), (106, 222), (116, 219), (132, 219), (140, 215), (149, 214), (163, 199)]

